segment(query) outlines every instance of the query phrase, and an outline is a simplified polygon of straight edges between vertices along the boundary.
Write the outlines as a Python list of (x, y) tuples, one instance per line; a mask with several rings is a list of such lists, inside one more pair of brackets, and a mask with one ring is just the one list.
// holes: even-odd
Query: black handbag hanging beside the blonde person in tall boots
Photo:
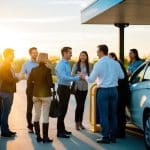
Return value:
[(56, 91), (54, 88), (53, 88), (53, 99), (52, 99), (51, 105), (50, 105), (49, 116), (52, 118), (57, 118), (60, 116), (59, 101), (57, 99)]

